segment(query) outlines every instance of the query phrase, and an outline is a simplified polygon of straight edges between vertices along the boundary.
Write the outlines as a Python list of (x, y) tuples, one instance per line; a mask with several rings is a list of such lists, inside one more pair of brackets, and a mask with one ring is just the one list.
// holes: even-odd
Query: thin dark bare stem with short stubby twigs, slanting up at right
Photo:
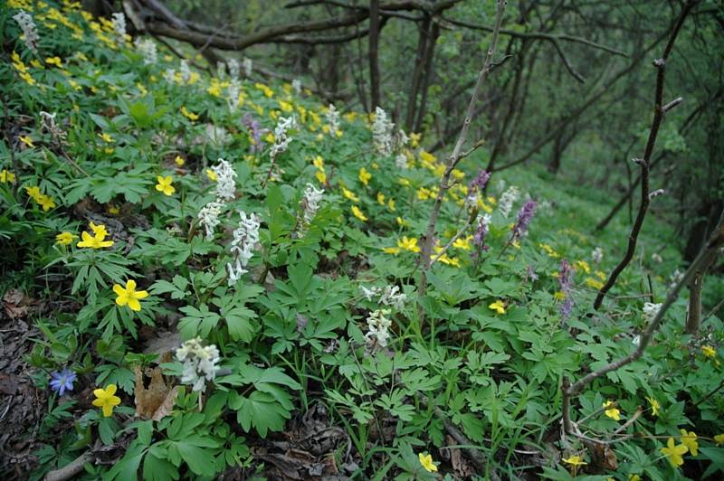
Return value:
[[(628, 264), (633, 259), (633, 253), (636, 250), (636, 243), (638, 242), (639, 232), (643, 226), (643, 220), (646, 217), (646, 211), (649, 208), (651, 199), (649, 197), (649, 168), (653, 154), (653, 147), (656, 145), (656, 137), (659, 135), (659, 127), (662, 125), (664, 116), (663, 104), (663, 82), (666, 77), (666, 61), (669, 58), (669, 53), (672, 52), (673, 44), (676, 42), (676, 37), (681, 32), (681, 25), (687, 15), (691, 12), (691, 9), (696, 5), (696, 0), (688, 0), (684, 5), (679, 15), (679, 20), (673, 28), (673, 32), (669, 37), (669, 42), (666, 43), (666, 47), (663, 49), (663, 55), (660, 59), (653, 61), (653, 66), (656, 68), (656, 90), (654, 93), (653, 102), (653, 121), (651, 129), (649, 130), (649, 138), (646, 141), (646, 149), (643, 152), (643, 159), (637, 160), (637, 164), (641, 165), (641, 203), (639, 204), (639, 212), (636, 215), (636, 220), (633, 222), (631, 234), (629, 234), (628, 247), (624, 254), (624, 259), (618, 263), (618, 265), (611, 272), (611, 275), (605, 281), (604, 287), (598, 291), (598, 295), (595, 297), (594, 309), (598, 310), (601, 304), (604, 302), (606, 293), (614, 287), (618, 276), (626, 269)], [(681, 100), (672, 102), (674, 106), (678, 105)], [(671, 104), (669, 104), (671, 105)]]

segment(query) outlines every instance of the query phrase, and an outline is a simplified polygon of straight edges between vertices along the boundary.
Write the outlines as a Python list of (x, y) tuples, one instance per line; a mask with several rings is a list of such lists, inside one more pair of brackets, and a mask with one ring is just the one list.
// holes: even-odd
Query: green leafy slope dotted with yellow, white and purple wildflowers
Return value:
[(721, 476), (724, 331), (684, 335), (683, 297), (562, 435), (564, 379), (630, 353), (684, 269), (666, 225), (595, 311), (624, 219), (593, 235), (606, 194), (535, 170), (489, 182), (483, 146), (423, 293), (443, 159), (384, 110), (248, 64), (212, 77), (71, 2), (11, 0), (0, 23), (5, 472)]

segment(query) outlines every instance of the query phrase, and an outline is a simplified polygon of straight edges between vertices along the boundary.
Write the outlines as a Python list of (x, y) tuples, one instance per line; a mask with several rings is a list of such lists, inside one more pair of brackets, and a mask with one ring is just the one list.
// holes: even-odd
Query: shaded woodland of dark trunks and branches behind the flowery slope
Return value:
[[(499, 58), (472, 137), (491, 172), (545, 165), (590, 187), (633, 220), (651, 122), (655, 69), (684, 2), (510, 2)], [(652, 212), (675, 227), (691, 260), (713, 228), (724, 189), (724, 7), (695, 2), (667, 66), (663, 122), (652, 159)], [(444, 152), (462, 125), (495, 5), (463, 0), (379, 2), (183, 0), (123, 2), (138, 30), (190, 43), (208, 65), (251, 59), (254, 74), (299, 79), (338, 108), (393, 112), (424, 146)], [(119, 5), (94, 5), (99, 14)], [(213, 67), (209, 70), (214, 70)]]

